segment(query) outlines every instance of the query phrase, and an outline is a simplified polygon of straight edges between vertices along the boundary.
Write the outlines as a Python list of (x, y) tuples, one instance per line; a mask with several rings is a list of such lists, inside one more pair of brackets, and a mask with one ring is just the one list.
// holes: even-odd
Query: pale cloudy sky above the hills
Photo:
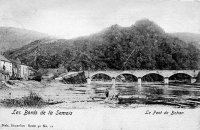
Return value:
[(144, 18), (169, 33), (200, 33), (200, 0), (0, 0), (0, 26), (66, 39)]

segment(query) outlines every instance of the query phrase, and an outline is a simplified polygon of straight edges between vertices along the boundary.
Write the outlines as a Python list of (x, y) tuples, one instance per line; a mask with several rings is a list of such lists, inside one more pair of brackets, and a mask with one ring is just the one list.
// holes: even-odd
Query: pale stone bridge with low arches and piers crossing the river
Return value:
[(125, 71), (85, 71), (87, 83), (90, 84), (93, 77), (97, 74), (105, 74), (112, 78), (112, 82), (115, 83), (116, 77), (122, 74), (130, 74), (137, 77), (138, 84), (142, 84), (142, 77), (148, 74), (158, 74), (164, 78), (164, 83), (169, 83), (169, 78), (175, 74), (186, 74), (191, 77), (191, 83), (196, 81), (197, 75), (200, 70), (125, 70)]

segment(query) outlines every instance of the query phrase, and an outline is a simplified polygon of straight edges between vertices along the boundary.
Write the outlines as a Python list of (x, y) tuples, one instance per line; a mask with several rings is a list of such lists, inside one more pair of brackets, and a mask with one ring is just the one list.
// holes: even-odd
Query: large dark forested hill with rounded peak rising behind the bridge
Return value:
[(147, 19), (72, 40), (36, 40), (5, 55), (36, 69), (63, 64), (68, 70), (198, 69), (200, 56), (195, 46)]

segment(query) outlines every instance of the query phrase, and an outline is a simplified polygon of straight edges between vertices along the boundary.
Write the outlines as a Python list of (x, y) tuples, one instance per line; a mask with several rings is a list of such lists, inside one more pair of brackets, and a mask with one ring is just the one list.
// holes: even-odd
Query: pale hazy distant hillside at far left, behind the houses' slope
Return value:
[(14, 27), (0, 27), (0, 51), (21, 48), (37, 39), (49, 37), (47, 34)]

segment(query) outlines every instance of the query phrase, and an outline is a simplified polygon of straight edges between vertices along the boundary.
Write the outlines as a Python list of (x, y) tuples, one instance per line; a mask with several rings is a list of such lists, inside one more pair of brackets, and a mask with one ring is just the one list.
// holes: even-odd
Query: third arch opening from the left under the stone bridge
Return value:
[(163, 82), (164, 81), (164, 76), (159, 74), (159, 73), (147, 73), (141, 77), (142, 81), (147, 81), (147, 82)]

